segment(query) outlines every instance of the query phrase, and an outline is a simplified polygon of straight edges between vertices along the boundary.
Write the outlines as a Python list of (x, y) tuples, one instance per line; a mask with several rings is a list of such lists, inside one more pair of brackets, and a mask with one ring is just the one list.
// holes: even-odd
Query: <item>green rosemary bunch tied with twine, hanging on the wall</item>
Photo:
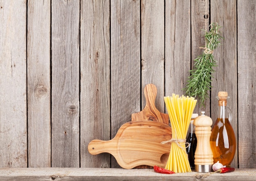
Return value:
[(210, 27), (209, 32), (204, 30), (205, 46), (200, 47), (204, 49), (204, 52), (194, 60), (195, 69), (190, 71), (191, 75), (184, 88), (186, 95), (199, 99), (200, 107), (205, 107), (205, 100), (209, 98), (207, 91), (211, 90), (211, 80), (215, 72), (213, 67), (217, 66), (217, 61), (212, 53), (220, 45), (219, 39), (222, 38), (219, 31), (220, 26), (217, 23), (212, 23)]

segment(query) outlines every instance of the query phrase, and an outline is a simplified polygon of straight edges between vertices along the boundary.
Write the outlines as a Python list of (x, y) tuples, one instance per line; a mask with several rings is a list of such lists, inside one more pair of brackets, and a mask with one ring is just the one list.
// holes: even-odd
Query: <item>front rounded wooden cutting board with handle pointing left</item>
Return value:
[(140, 165), (166, 165), (171, 143), (171, 127), (156, 121), (130, 121), (123, 124), (117, 135), (109, 140), (92, 140), (88, 151), (92, 155), (108, 152), (126, 169)]

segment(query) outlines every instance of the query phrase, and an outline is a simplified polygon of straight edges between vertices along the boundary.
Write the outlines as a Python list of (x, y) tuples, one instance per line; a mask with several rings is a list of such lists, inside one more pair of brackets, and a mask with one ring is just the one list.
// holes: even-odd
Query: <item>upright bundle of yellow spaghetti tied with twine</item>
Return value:
[(194, 97), (173, 94), (164, 97), (168, 115), (171, 121), (171, 150), (165, 168), (173, 172), (191, 172), (186, 153), (186, 135), (197, 100)]

